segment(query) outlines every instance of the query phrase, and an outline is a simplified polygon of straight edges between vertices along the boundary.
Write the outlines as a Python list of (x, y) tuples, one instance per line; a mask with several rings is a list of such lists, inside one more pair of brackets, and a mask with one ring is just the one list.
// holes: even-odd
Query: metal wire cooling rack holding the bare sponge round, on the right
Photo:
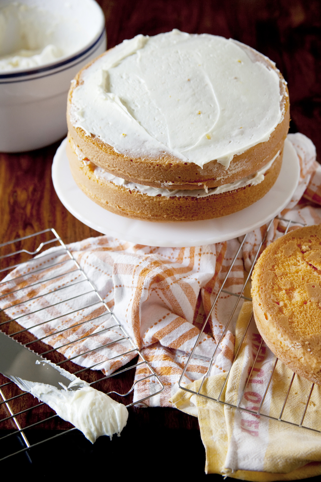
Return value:
[[(288, 231), (291, 225), (298, 225), (298, 226), (304, 226), (303, 223), (300, 222), (294, 222), (291, 220), (286, 220), (282, 218), (277, 218), (278, 221), (281, 221), (284, 229), (284, 234)], [(201, 333), (198, 336), (198, 339), (195, 343), (195, 346), (193, 348), (193, 351), (191, 352), (188, 361), (186, 363), (186, 366), (183, 370), (183, 374), (180, 378), (179, 381), (179, 386), (181, 389), (192, 393), (193, 395), (199, 395), (200, 397), (204, 397), (207, 400), (213, 400), (215, 402), (218, 402), (222, 405), (231, 407), (233, 409), (237, 409), (241, 412), (247, 412), (251, 414), (251, 416), (258, 417), (258, 416), (263, 416), (268, 419), (273, 419), (277, 420), (280, 422), (285, 422), (290, 425), (294, 425), (297, 427), (302, 427), (306, 428), (309, 430), (313, 430), (316, 432), (321, 432), (321, 421), (317, 424), (315, 423), (315, 418), (313, 420), (313, 424), (306, 419), (307, 411), (308, 410), (314, 410), (317, 408), (317, 402), (319, 400), (319, 397), (321, 396), (321, 387), (318, 385), (311, 384), (310, 382), (300, 379), (299, 377), (295, 380), (297, 375), (295, 375), (293, 372), (291, 372), (289, 369), (285, 368), (285, 366), (276, 358), (269, 348), (265, 345), (264, 341), (262, 340), (261, 336), (257, 334), (257, 346), (256, 346), (256, 353), (253, 355), (253, 362), (251, 366), (249, 367), (248, 374), (245, 374), (240, 378), (241, 384), (238, 387), (238, 390), (235, 389), (235, 396), (233, 397), (234, 403), (230, 403), (229, 401), (225, 400), (225, 393), (226, 393), (226, 388), (228, 386), (229, 378), (231, 377), (231, 373), (233, 370), (233, 365), (236, 363), (237, 357), (240, 355), (241, 349), (242, 349), (242, 343), (245, 343), (246, 339), (246, 334), (251, 328), (255, 326), (255, 321), (254, 321), (254, 316), (252, 313), (252, 316), (250, 318), (250, 321), (247, 323), (246, 326), (243, 327), (243, 331), (240, 334), (241, 341), (238, 345), (237, 352), (234, 355), (233, 363), (229, 371), (225, 374), (225, 377), (222, 377), (222, 382), (219, 386), (215, 386), (215, 392), (210, 392), (207, 390), (206, 387), (206, 382), (210, 378), (210, 373), (211, 369), (213, 367), (213, 364), (215, 364), (215, 358), (217, 354), (219, 353), (220, 349), (223, 348), (223, 339), (229, 330), (229, 328), (235, 323), (235, 320), (237, 318), (237, 315), (241, 309), (241, 306), (244, 301), (251, 301), (250, 295), (246, 295), (249, 292), (249, 282), (251, 279), (251, 273), (254, 268), (254, 265), (256, 263), (256, 260), (259, 257), (260, 250), (262, 249), (262, 245), (265, 242), (265, 239), (268, 235), (268, 232), (270, 229), (273, 229), (273, 222), (275, 220), (272, 220), (270, 224), (268, 225), (266, 234), (264, 239), (262, 240), (262, 243), (260, 243), (257, 248), (256, 248), (256, 255), (255, 259), (252, 263), (251, 270), (247, 275), (246, 280), (244, 281), (244, 284), (240, 291), (238, 293), (233, 293), (227, 289), (225, 289), (225, 286), (229, 286), (229, 278), (233, 276), (233, 266), (240, 255), (242, 251), (242, 247), (244, 243), (246, 243), (246, 239), (248, 234), (245, 234), (245, 236), (242, 239), (241, 246), (239, 247), (238, 251), (235, 253), (234, 259), (232, 261), (232, 264), (226, 274), (226, 277), (224, 279), (224, 282), (222, 283), (222, 286), (217, 293), (217, 296), (215, 298), (215, 301), (211, 307), (211, 312), (209, 313), (207, 319), (205, 320)], [(245, 294), (246, 293), (246, 294)], [(191, 390), (190, 388), (187, 388), (185, 383), (184, 383), (184, 377), (186, 372), (189, 372), (189, 365), (190, 363), (192, 364), (192, 356), (195, 350), (197, 349), (199, 343), (201, 342), (202, 339), (202, 333), (204, 330), (206, 331), (206, 327), (209, 323), (210, 315), (217, 305), (220, 297), (224, 296), (231, 296), (234, 298), (235, 302), (231, 304), (230, 308), (230, 313), (227, 315), (227, 323), (225, 325), (224, 331), (222, 332), (222, 335), (220, 337), (220, 340), (216, 346), (215, 352), (209, 361), (208, 367), (206, 374), (203, 377), (202, 383), (200, 384), (198, 389)], [(264, 381), (264, 386), (260, 386), (259, 393), (253, 390), (253, 379), (256, 374), (259, 373), (260, 367), (261, 367), (261, 362), (262, 358), (266, 358), (266, 354), (269, 353), (269, 368), (270, 368), (270, 376), (268, 377), (268, 380)], [(283, 366), (280, 369), (280, 365)], [(286, 372), (286, 376), (279, 377), (277, 375), (277, 370), (280, 370), (283, 374)], [(285, 370), (285, 372), (284, 372)], [(233, 377), (233, 375), (232, 375)], [(277, 387), (278, 387), (278, 402), (277, 404), (272, 405), (271, 404), (271, 386), (274, 380), (277, 378)], [(294, 381), (299, 380), (296, 384), (294, 384)], [(260, 380), (259, 378), (256, 378), (254, 380), (255, 383), (261, 384), (263, 380)], [(251, 385), (252, 383), (252, 385)], [(294, 389), (294, 385), (296, 388)], [(297, 387), (299, 386), (299, 392), (297, 391)], [(213, 388), (212, 388), (213, 390)], [(314, 392), (313, 392), (314, 390)], [(211, 393), (209, 395), (209, 393)], [(315, 395), (313, 401), (313, 395)], [(250, 403), (248, 403), (250, 402)], [(272, 407), (272, 408), (271, 408)], [(252, 419), (252, 423), (255, 423), (254, 418)]]

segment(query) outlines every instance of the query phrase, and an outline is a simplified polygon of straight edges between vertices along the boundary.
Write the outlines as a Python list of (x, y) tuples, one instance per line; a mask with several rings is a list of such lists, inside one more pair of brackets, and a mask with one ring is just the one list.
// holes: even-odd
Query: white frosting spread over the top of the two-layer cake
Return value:
[(201, 167), (265, 142), (281, 122), (280, 78), (234, 40), (178, 30), (125, 40), (81, 75), (71, 122), (132, 157)]

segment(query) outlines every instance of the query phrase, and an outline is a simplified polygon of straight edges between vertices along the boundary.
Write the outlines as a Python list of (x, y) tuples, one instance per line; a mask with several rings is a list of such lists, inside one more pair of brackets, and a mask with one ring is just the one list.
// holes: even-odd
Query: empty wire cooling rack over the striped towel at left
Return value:
[[(0, 309), (0, 329), (2, 331), (32, 351), (87, 381), (94, 388), (105, 392), (114, 400), (123, 403), (127, 408), (143, 403), (164, 389), (162, 382), (146, 362), (125, 328), (109, 309), (54, 229), (46, 229), (2, 244), (0, 250), (0, 279), (2, 280), (0, 281), (2, 293), (0, 302), (2, 306), (5, 306)], [(47, 254), (48, 252), (50, 255)], [(23, 274), (21, 270), (19, 271), (22, 266), (28, 266)], [(48, 275), (44, 280), (42, 275), (45, 271), (48, 272)], [(36, 279), (37, 275), (41, 277), (41, 281)], [(64, 280), (67, 277), (67, 282), (60, 285), (59, 280), (62, 277)], [(12, 278), (14, 278), (14, 283)], [(46, 286), (46, 292), (43, 291), (43, 285)], [(24, 291), (26, 286), (29, 289), (28, 295)], [(30, 289), (35, 292), (40, 290), (41, 295), (33, 296)], [(52, 303), (53, 297), (58, 295), (59, 300)], [(7, 299), (8, 302), (6, 302)], [(14, 304), (11, 302), (12, 299), (16, 300)], [(43, 306), (39, 309), (40, 301)], [(38, 308), (35, 310), (30, 308), (32, 303), (35, 303)], [(29, 322), (26, 327), (26, 322), (22, 323), (22, 320), (26, 320), (27, 305), (28, 316), (31, 320), (37, 319), (37, 325)], [(19, 314), (15, 315), (13, 310)], [(86, 314), (86, 310), (89, 314)], [(59, 322), (60, 319), (64, 320), (66, 317), (71, 318), (71, 315), (78, 312), (82, 313), (81, 321), (73, 322), (72, 325), (69, 323), (66, 327), (57, 329), (54, 334), (52, 332), (46, 334), (48, 324)], [(101, 328), (89, 332), (88, 325), (92, 326), (95, 323)], [(35, 336), (32, 332), (39, 326), (44, 334)], [(71, 330), (76, 330), (76, 333), (84, 333), (84, 335), (81, 337), (77, 335), (72, 340), (69, 336), (68, 343), (64, 343), (64, 332), (70, 333)], [(79, 345), (84, 340), (90, 342), (90, 339), (97, 336), (105, 336), (108, 339), (110, 333), (113, 333), (111, 341), (105, 344), (99, 343), (98, 347), (96, 345), (86, 351), (82, 349), (81, 353), (76, 352), (68, 358), (58, 351), (59, 349), (70, 350), (73, 345)], [(50, 341), (53, 335), (56, 339), (61, 338), (62, 340), (61, 345), (58, 348), (56, 346), (55, 349)], [(111, 349), (116, 345), (119, 354), (107, 359), (105, 353), (113, 353)], [(89, 367), (84, 368), (77, 365), (80, 357), (84, 359), (88, 355), (96, 355), (101, 352), (98, 361)], [(120, 362), (123, 359), (128, 359), (128, 363)], [(120, 368), (113, 373), (106, 375), (105, 372), (103, 374), (100, 367), (103, 367), (106, 362), (109, 366)], [(135, 379), (137, 369), (140, 370), (140, 373), (145, 374), (139, 379)], [(140, 390), (140, 386), (150, 380), (154, 382), (153, 393), (146, 396), (146, 391)], [(144, 394), (144, 396), (139, 397), (140, 394)], [(39, 403), (29, 393), (22, 392), (18, 386), (1, 374), (0, 418), (0, 461), (76, 430), (71, 424), (60, 419), (47, 405)], [(31, 435), (31, 441), (29, 433), (33, 434), (35, 429), (38, 434), (42, 433), (42, 435), (36, 437), (35, 440)], [(48, 436), (48, 429), (53, 430), (54, 435)]]

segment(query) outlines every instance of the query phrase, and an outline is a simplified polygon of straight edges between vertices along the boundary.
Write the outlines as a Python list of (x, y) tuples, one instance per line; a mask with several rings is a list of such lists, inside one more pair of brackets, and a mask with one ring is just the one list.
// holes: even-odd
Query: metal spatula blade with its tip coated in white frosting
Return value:
[(120, 434), (127, 423), (125, 405), (92, 388), (0, 331), (0, 372), (49, 405), (92, 443), (100, 435)]

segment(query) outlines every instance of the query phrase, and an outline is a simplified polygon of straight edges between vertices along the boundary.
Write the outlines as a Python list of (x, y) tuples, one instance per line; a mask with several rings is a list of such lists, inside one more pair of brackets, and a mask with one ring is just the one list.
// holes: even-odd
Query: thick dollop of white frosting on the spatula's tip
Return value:
[[(69, 386), (70, 388), (70, 386)], [(115, 402), (84, 382), (78, 390), (58, 390), (52, 385), (34, 384), (30, 393), (49, 405), (59, 417), (71, 422), (91, 443), (101, 435), (118, 435), (128, 418), (125, 405)]]

